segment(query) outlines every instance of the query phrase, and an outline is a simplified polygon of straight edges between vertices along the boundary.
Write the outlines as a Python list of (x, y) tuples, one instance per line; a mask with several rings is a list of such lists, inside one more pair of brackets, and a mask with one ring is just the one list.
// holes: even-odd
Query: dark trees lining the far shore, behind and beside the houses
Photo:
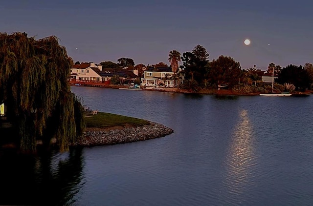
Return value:
[[(221, 55), (217, 59), (209, 60), (206, 48), (196, 45), (192, 51), (180, 54), (172, 50), (168, 55), (169, 65), (159, 62), (152, 65), (142, 63), (135, 65), (131, 58), (121, 57), (115, 62), (100, 62), (104, 68), (131, 67), (138, 70), (139, 77), (143, 75), (143, 68), (147, 66), (167, 67), (171, 66), (177, 86), (190, 91), (198, 91), (206, 88), (227, 88), (239, 92), (270, 92), (270, 87), (262, 82), (262, 72), (254, 65), (242, 69), (240, 62), (232, 57)], [(76, 62), (79, 63), (79, 62)], [(180, 65), (179, 65), (180, 64)], [(275, 90), (284, 91), (281, 86), (285, 83), (293, 84), (296, 90), (312, 88), (313, 65), (306, 63), (302, 65), (289, 64), (281, 67), (273, 62), (268, 64), (268, 74), (274, 72)], [(280, 85), (278, 85), (280, 84)]]

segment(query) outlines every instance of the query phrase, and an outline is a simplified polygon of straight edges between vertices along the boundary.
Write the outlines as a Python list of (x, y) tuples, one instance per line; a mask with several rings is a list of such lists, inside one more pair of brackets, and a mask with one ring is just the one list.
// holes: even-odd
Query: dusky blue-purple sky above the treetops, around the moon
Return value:
[(210, 60), (284, 67), (313, 62), (312, 8), (312, 0), (1, 0), (0, 32), (55, 35), (74, 62), (168, 63), (169, 51), (201, 44)]

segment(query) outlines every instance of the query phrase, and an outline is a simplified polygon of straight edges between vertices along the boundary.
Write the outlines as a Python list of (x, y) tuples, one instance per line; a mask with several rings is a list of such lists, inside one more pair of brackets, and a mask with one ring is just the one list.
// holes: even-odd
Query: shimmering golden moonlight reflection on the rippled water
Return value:
[(231, 194), (244, 192), (244, 187), (251, 183), (251, 166), (254, 165), (253, 128), (246, 110), (240, 112), (238, 124), (234, 127), (230, 148), (227, 155), (226, 185)]

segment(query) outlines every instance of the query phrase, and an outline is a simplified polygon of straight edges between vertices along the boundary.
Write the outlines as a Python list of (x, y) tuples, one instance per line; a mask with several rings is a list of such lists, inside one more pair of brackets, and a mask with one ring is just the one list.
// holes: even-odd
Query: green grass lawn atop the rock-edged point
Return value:
[(146, 120), (105, 112), (98, 112), (98, 115), (86, 114), (85, 121), (87, 128), (90, 127), (108, 128), (114, 126), (142, 126), (150, 124)]

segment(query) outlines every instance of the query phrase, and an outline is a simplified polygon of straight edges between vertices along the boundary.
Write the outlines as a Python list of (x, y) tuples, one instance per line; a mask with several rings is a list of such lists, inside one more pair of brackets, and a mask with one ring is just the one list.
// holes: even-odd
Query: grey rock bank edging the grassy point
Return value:
[(118, 129), (97, 129), (94, 131), (86, 131), (79, 138), (74, 146), (97, 146), (97, 145), (111, 145), (131, 143), (137, 141), (150, 140), (164, 137), (174, 132), (173, 129), (150, 122), (149, 125), (126, 127)]

